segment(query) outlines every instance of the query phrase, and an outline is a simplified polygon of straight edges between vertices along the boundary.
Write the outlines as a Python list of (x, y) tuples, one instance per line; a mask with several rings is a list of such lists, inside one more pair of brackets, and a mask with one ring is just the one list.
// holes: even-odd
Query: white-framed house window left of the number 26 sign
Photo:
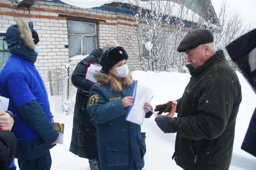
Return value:
[(69, 57), (88, 55), (96, 48), (96, 24), (68, 21)]

